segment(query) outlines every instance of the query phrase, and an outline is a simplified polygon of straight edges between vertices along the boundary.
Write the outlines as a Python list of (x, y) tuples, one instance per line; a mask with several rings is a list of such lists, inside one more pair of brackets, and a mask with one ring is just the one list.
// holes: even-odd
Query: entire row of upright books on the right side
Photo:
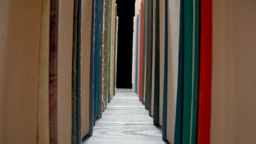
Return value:
[(136, 0), (132, 85), (170, 144), (256, 143), (256, 1)]

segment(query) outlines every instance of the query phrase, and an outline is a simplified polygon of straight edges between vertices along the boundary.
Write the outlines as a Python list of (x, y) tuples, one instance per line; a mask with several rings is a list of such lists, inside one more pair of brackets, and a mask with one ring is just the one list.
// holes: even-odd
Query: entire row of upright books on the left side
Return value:
[(0, 144), (81, 144), (115, 93), (115, 0), (0, 3)]

